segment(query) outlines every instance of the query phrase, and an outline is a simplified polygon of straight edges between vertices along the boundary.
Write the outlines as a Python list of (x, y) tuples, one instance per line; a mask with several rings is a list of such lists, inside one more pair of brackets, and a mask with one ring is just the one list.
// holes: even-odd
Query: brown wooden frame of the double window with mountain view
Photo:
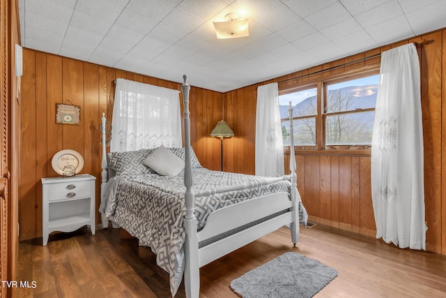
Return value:
[[(372, 75), (379, 74), (379, 66), (369, 68), (367, 70), (359, 70), (352, 73), (340, 73), (337, 75), (328, 75), (326, 77), (318, 77), (314, 80), (307, 80), (305, 82), (295, 83), (295, 84), (287, 84), (282, 87), (279, 84), (279, 96), (284, 94), (290, 94), (296, 91), (302, 91), (305, 89), (317, 88), (316, 94), (316, 105), (317, 105), (317, 115), (316, 115), (316, 145), (315, 146), (300, 146), (295, 145), (294, 150), (298, 154), (318, 154), (318, 155), (357, 155), (357, 156), (370, 156), (371, 154), (371, 144), (365, 145), (327, 145), (325, 144), (326, 136), (326, 118), (328, 116), (336, 115), (336, 114), (352, 114), (355, 112), (367, 112), (374, 111), (375, 107), (361, 109), (360, 111), (352, 110), (352, 111), (341, 111), (341, 112), (325, 112), (327, 110), (327, 87), (330, 84), (337, 84), (339, 82), (346, 82), (349, 80), (356, 80), (361, 77), (368, 77)], [(314, 116), (309, 116), (314, 117)], [(305, 117), (293, 117), (293, 120), (300, 118), (309, 118)], [(281, 119), (285, 120), (285, 119)], [(290, 154), (290, 146), (284, 146), (284, 153)]]

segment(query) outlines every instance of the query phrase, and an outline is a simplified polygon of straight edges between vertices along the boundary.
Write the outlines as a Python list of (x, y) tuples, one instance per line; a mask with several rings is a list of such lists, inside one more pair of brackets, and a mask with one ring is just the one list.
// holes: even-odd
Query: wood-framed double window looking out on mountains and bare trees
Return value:
[(297, 149), (369, 147), (378, 80), (378, 74), (368, 73), (279, 91), (284, 146), (289, 146), (291, 102)]

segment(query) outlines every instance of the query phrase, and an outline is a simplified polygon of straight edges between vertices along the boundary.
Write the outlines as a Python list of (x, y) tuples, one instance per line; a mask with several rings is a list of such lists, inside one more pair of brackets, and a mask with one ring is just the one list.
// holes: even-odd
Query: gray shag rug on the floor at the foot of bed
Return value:
[(299, 253), (284, 253), (231, 282), (243, 298), (313, 297), (337, 276), (337, 271)]

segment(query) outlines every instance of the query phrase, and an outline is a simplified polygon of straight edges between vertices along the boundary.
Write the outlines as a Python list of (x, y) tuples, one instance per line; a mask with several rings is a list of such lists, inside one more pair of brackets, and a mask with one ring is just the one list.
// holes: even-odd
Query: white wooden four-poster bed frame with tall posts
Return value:
[[(187, 84), (187, 76), (183, 75), (184, 83), (181, 85), (184, 103), (184, 128), (185, 128), (185, 177), (186, 186), (185, 205), (186, 215), (184, 227), (186, 239), (185, 249), (185, 292), (186, 297), (199, 297), (200, 288), (200, 267), (221, 258), (223, 255), (231, 253), (236, 249), (269, 234), (282, 226), (289, 224), (291, 228), (291, 240), (293, 244), (299, 241), (299, 204), (300, 196), (296, 185), (295, 156), (293, 137), (290, 137), (290, 170), (291, 174), (284, 177), (268, 179), (263, 183), (249, 183), (239, 186), (225, 186), (208, 191), (194, 192), (192, 177), (191, 154), (190, 154), (190, 118), (189, 118), (189, 92), (190, 86)], [(290, 135), (293, 136), (293, 107), (289, 107)], [(102, 185), (101, 198), (105, 193), (107, 185), (107, 156), (106, 156), (106, 135), (105, 135), (105, 114), (102, 113)], [(233, 204), (222, 209), (218, 209), (210, 214), (206, 220), (205, 227), (197, 232), (197, 218), (194, 215), (194, 200), (200, 196), (215, 195), (228, 191), (238, 191), (243, 189), (256, 188), (261, 185), (271, 184), (276, 181), (291, 179), (291, 200), (288, 193), (275, 193), (260, 198), (247, 200), (238, 204)], [(274, 204), (272, 204), (274, 202)], [(257, 225), (247, 228), (224, 239), (220, 239), (211, 244), (199, 248), (199, 242), (210, 239), (223, 232), (239, 228), (252, 223), (260, 218), (264, 218), (279, 211), (289, 209), (286, 213), (280, 214), (268, 221), (263, 221)], [(222, 224), (224, 223), (224, 224)], [(108, 227), (108, 220), (102, 216), (104, 228)]]

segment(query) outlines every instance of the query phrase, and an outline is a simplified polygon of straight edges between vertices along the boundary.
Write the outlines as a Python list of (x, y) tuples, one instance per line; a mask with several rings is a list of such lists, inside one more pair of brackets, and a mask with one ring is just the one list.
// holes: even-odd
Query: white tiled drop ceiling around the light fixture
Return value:
[[(19, 0), (22, 47), (230, 91), (446, 27), (446, 0)], [(213, 21), (249, 17), (249, 37)]]

